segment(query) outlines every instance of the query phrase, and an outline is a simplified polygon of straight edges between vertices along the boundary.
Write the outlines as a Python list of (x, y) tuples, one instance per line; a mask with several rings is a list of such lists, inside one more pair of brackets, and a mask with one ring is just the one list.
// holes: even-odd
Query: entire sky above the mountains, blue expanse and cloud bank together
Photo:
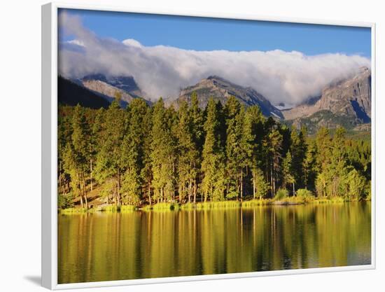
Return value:
[[(326, 85), (370, 67), (369, 28), (104, 11), (59, 13), (59, 74), (132, 76), (154, 100), (174, 98), (181, 88), (217, 75), (251, 86), (274, 104), (299, 104), (319, 95)], [(116, 42), (127, 39), (143, 46)]]

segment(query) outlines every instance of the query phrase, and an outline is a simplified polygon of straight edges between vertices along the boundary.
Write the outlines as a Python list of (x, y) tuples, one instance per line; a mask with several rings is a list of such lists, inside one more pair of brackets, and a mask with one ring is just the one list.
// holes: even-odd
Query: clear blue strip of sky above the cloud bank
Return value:
[[(370, 57), (370, 28), (67, 10), (97, 36), (186, 50), (297, 50)], [(66, 36), (63, 41), (71, 39)]]

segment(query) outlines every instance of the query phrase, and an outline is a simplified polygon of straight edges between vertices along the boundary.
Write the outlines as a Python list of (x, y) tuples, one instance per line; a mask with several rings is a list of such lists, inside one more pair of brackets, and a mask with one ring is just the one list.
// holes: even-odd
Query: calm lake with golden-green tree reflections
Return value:
[(59, 283), (370, 264), (370, 203), (59, 215)]

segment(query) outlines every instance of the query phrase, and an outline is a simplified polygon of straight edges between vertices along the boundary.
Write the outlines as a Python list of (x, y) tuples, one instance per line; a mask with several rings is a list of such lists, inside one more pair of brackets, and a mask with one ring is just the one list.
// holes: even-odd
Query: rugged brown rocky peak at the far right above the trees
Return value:
[[(370, 123), (371, 78), (370, 69), (363, 67), (356, 76), (324, 88), (321, 97), (282, 111), (283, 116), (286, 120), (293, 120), (293, 123), (301, 123), (304, 119), (317, 120), (318, 124), (322, 124), (328, 120), (326, 124), (330, 127), (333, 120), (337, 122), (341, 119), (351, 125)], [(332, 117), (337, 117), (337, 120)]]

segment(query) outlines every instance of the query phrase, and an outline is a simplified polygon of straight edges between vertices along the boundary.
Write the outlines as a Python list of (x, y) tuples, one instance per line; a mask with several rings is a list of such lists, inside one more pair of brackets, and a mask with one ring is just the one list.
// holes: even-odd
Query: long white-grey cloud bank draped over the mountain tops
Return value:
[(59, 14), (59, 27), (74, 37), (59, 46), (59, 74), (69, 78), (96, 73), (133, 76), (153, 100), (176, 98), (181, 88), (217, 75), (254, 88), (273, 104), (298, 104), (321, 94), (326, 85), (353, 76), (360, 67), (370, 67), (370, 59), (360, 55), (196, 51), (147, 47), (134, 39), (102, 39), (83, 27), (80, 18), (65, 12)]

